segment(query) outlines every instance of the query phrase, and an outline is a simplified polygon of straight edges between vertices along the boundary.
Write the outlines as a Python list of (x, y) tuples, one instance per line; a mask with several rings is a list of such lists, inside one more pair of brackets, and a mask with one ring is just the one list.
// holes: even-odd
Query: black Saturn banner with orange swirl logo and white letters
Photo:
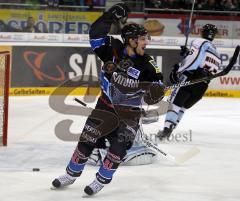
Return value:
[[(168, 81), (179, 61), (177, 50), (147, 49)], [(11, 87), (56, 87), (69, 79), (71, 86), (99, 86), (101, 61), (90, 47), (13, 47)]]

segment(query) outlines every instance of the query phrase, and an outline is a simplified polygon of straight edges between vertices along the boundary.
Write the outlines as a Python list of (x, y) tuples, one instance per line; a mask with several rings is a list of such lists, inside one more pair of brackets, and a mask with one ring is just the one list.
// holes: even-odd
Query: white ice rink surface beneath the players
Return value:
[[(98, 167), (87, 166), (68, 188), (50, 190), (76, 146), (76, 142), (58, 139), (55, 125), (70, 118), (74, 120), (72, 132), (79, 132), (85, 119), (53, 111), (48, 97), (11, 97), (9, 116), (8, 146), (0, 147), (1, 201), (240, 200), (239, 99), (204, 98), (186, 112), (175, 131), (184, 134), (192, 130), (191, 141), (159, 144), (173, 155), (196, 146), (200, 149), (196, 157), (181, 166), (161, 156), (151, 165), (121, 166), (111, 184), (91, 198), (82, 198), (83, 189)], [(163, 117), (144, 130), (154, 133), (162, 126)]]

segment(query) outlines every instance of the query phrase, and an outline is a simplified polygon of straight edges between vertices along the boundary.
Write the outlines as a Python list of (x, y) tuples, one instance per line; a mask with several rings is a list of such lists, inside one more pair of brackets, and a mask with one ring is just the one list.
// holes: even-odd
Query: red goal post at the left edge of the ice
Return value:
[(10, 52), (0, 51), (0, 145), (7, 145)]

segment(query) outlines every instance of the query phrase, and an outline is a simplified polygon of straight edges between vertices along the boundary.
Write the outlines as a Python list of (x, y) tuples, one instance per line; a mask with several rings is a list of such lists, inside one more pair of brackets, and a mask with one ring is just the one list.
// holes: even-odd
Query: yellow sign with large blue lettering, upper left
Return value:
[(26, 26), (26, 20), (31, 16), (41, 32), (77, 34), (87, 34), (91, 24), (102, 15), (102, 12), (11, 9), (0, 9), (0, 13), (5, 24), (19, 31)]

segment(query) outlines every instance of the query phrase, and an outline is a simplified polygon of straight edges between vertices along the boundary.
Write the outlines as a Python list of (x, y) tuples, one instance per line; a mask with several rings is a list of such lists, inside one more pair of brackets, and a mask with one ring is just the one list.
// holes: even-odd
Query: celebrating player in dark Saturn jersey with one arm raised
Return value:
[[(108, 36), (111, 24), (127, 17), (128, 12), (125, 4), (116, 4), (90, 28), (91, 47), (104, 62), (100, 76), (102, 95), (85, 123), (66, 174), (52, 182), (55, 188), (72, 184), (81, 175), (93, 149), (104, 145), (106, 139), (110, 144), (108, 152), (96, 178), (84, 192), (94, 195), (109, 184), (136, 136), (142, 100), (155, 104), (164, 96), (160, 69), (145, 54), (149, 42), (146, 29), (127, 24), (121, 33), (123, 42)], [(116, 119), (115, 127), (106, 132)]]

